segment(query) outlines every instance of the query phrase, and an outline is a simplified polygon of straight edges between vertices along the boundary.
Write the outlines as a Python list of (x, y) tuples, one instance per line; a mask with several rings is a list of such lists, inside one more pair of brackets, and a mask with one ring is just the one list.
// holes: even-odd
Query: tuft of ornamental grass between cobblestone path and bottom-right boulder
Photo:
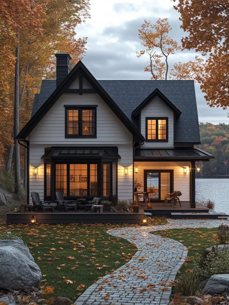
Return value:
[(175, 292), (182, 296), (201, 296), (200, 278), (196, 272), (182, 273), (175, 283)]

